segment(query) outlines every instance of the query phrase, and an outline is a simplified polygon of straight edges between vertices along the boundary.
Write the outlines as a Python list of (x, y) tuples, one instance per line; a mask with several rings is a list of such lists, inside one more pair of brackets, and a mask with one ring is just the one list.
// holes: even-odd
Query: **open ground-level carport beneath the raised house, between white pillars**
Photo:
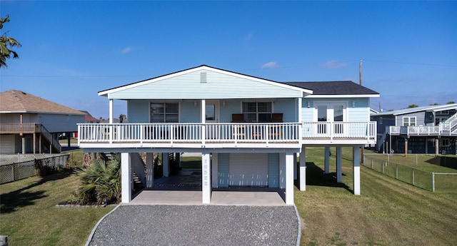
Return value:
[[(121, 153), (122, 203), (131, 203), (133, 199), (140, 201), (139, 203), (145, 199), (153, 203), (166, 203), (163, 199), (167, 198), (173, 203), (182, 203), (181, 200), (186, 200), (184, 203), (195, 203), (196, 198), (199, 198), (198, 204), (236, 205), (247, 203), (248, 200), (254, 203), (263, 198), (273, 198), (276, 199), (273, 204), (293, 205), (293, 173), (296, 170), (294, 157), (299, 149), (204, 149), (203, 152), (200, 149), (201, 170), (191, 170), (191, 173), (194, 173), (191, 175), (194, 181), (186, 175), (184, 185), (174, 180), (176, 177), (172, 176), (154, 180), (152, 153), (146, 153), (146, 177), (144, 177), (146, 189), (137, 196), (138, 198), (132, 197), (131, 190), (134, 166), (139, 160), (137, 158), (139, 150), (125, 151), (126, 149)], [(154, 150), (149, 149), (149, 151)], [(171, 153), (171, 151), (161, 149), (154, 152)], [(186, 152), (179, 149), (173, 149), (173, 151)], [(198, 150), (193, 150), (193, 153), (197, 153), (196, 151)], [(244, 158), (248, 160), (243, 160)], [(168, 176), (169, 164), (162, 163), (162, 165), (164, 165), (164, 176)], [(137, 172), (140, 173), (141, 170)], [(171, 181), (171, 185), (163, 183), (162, 180), (166, 179)], [(187, 188), (180, 188), (179, 185)], [(186, 195), (178, 195), (181, 192), (186, 192)], [(150, 196), (146, 194), (158, 196), (149, 198)], [(177, 200), (174, 200), (174, 197)], [(238, 199), (238, 202), (230, 202), (227, 199)]]

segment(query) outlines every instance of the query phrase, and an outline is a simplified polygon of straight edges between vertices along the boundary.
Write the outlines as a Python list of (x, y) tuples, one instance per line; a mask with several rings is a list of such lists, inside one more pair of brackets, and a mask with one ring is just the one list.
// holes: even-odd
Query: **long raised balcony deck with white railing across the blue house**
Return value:
[(79, 124), (81, 148), (300, 148), (376, 143), (376, 122)]

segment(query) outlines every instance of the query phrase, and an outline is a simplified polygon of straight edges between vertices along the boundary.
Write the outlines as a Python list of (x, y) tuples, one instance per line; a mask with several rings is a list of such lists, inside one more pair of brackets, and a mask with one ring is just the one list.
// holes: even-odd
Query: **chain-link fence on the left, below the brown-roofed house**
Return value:
[(65, 168), (69, 154), (0, 155), (0, 184)]

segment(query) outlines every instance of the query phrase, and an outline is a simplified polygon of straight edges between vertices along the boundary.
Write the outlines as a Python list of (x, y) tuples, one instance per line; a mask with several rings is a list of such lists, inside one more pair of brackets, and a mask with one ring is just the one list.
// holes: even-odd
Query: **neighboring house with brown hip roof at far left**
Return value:
[(60, 153), (59, 133), (74, 133), (84, 113), (23, 91), (0, 93), (0, 153)]

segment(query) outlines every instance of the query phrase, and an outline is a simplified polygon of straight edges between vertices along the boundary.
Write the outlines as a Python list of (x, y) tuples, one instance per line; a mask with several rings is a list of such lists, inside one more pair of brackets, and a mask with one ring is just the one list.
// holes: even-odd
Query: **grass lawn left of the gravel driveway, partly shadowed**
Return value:
[(0, 185), (0, 235), (9, 245), (84, 245), (114, 207), (55, 207), (77, 185), (73, 170)]

